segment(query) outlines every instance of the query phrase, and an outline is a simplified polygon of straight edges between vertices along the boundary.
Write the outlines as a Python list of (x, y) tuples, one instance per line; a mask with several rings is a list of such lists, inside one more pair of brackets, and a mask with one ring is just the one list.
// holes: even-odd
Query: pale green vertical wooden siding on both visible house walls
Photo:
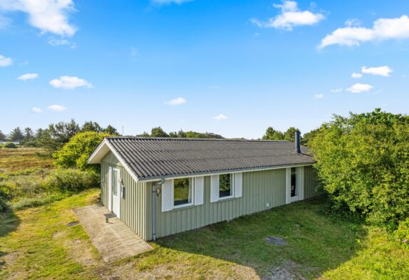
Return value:
[[(120, 219), (145, 240), (152, 239), (152, 182), (135, 182), (118, 159), (109, 152), (101, 161), (101, 202), (108, 207), (108, 168), (120, 169), (125, 185)], [(304, 198), (319, 195), (316, 175), (304, 167)], [(202, 205), (162, 212), (162, 197), (156, 196), (157, 237), (205, 227), (245, 214), (264, 211), (286, 203), (286, 169), (243, 173), (242, 197), (210, 202), (210, 176), (205, 176)], [(269, 207), (266, 204), (269, 203)]]

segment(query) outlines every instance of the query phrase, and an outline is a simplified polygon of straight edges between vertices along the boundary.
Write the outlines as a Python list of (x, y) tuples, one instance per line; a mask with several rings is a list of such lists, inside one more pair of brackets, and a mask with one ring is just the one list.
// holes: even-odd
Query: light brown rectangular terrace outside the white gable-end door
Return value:
[(150, 244), (138, 237), (120, 219), (110, 218), (109, 223), (105, 223), (103, 214), (109, 211), (101, 205), (81, 207), (73, 211), (105, 262), (118, 261), (152, 250)]

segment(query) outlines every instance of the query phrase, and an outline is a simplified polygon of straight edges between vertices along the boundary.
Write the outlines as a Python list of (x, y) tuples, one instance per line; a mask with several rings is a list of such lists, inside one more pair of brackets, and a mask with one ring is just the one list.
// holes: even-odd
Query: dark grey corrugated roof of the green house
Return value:
[(268, 140), (106, 138), (138, 179), (312, 164), (314, 157), (294, 143)]

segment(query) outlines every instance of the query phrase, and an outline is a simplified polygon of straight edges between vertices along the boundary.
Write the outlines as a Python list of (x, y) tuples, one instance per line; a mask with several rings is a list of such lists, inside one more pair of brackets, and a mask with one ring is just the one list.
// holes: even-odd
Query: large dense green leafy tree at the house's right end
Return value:
[(409, 117), (376, 109), (334, 115), (311, 142), (335, 209), (394, 229), (409, 216)]

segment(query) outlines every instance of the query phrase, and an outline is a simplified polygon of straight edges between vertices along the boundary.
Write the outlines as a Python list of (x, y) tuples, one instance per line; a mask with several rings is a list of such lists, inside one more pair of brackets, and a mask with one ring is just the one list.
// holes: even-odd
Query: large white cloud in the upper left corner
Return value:
[(76, 27), (68, 22), (68, 12), (75, 11), (73, 0), (2, 0), (0, 11), (21, 11), (41, 33), (72, 36)]

